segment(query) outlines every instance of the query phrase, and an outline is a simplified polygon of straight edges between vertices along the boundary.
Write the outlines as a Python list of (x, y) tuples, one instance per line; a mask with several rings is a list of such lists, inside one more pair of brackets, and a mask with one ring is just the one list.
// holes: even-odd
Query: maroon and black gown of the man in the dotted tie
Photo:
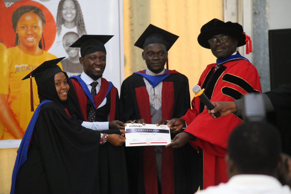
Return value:
[[(103, 99), (106, 97), (107, 102), (104, 106), (96, 109), (96, 119), (98, 122), (107, 122), (109, 115), (109, 122), (117, 120), (118, 111), (118, 90), (112, 86), (110, 91), (110, 84), (106, 79), (102, 79), (102, 84), (97, 95), (93, 97), (95, 107), (98, 107)], [(88, 113), (92, 106), (92, 102), (86, 96), (81, 84), (76, 78), (72, 78), (72, 83), (76, 91), (78, 102), (83, 115), (82, 120), (88, 121)], [(84, 82), (83, 82), (84, 83)], [(87, 87), (87, 86), (85, 86)], [(85, 88), (86, 89), (86, 88)], [(87, 88), (88, 89), (88, 88)], [(107, 94), (108, 91), (108, 94)], [(107, 94), (107, 95), (106, 95)], [(91, 92), (90, 94), (91, 95)], [(100, 131), (106, 134), (119, 134), (119, 129), (109, 129)], [(125, 153), (123, 146), (113, 146), (107, 142), (99, 146), (99, 180), (100, 180), (100, 193), (102, 194), (127, 194), (127, 171), (125, 162)]]

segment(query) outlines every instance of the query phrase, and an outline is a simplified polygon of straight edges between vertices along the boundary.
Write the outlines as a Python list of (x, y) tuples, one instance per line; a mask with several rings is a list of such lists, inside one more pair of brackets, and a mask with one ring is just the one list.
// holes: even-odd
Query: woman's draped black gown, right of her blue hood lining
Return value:
[[(31, 191), (42, 175), (37, 182), (40, 190), (29, 193), (46, 189), (49, 193), (99, 193), (99, 142), (99, 131), (82, 127), (56, 103), (46, 103), (34, 127), (28, 160), (17, 178), (17, 191)], [(40, 165), (33, 168), (35, 164)]]

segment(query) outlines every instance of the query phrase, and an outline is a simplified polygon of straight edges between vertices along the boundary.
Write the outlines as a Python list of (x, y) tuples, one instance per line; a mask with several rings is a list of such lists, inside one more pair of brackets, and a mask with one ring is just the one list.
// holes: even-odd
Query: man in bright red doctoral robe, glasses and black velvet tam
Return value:
[[(249, 36), (238, 23), (212, 19), (202, 26), (198, 43), (211, 49), (217, 57), (216, 63), (207, 65), (198, 81), (211, 101), (233, 101), (246, 93), (261, 92), (256, 68), (236, 51), (237, 47), (247, 43), (246, 51), (249, 52), (248, 41)], [(233, 114), (212, 119), (198, 97), (192, 100), (192, 107), (181, 118), (167, 123), (173, 131), (183, 130), (187, 126), (167, 147), (181, 147), (190, 141), (201, 151), (203, 178), (200, 179), (200, 189), (203, 189), (227, 181), (224, 160), (227, 140), (230, 132), (242, 120)]]

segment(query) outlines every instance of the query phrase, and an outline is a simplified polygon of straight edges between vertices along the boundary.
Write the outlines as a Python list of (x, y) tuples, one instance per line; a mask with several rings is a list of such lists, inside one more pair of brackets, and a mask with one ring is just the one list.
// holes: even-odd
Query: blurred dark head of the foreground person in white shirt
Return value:
[(263, 122), (246, 122), (236, 127), (228, 140), (228, 177), (260, 174), (278, 177), (281, 140), (278, 130)]

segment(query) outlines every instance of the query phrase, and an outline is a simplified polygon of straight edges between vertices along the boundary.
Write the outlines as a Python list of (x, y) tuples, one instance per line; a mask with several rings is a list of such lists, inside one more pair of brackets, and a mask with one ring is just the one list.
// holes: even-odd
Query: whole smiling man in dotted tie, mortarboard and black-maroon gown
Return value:
[[(124, 123), (118, 121), (118, 90), (102, 78), (106, 67), (104, 44), (112, 35), (82, 35), (70, 47), (80, 47), (79, 58), (84, 71), (71, 76), (82, 113), (82, 126), (106, 134), (120, 134)], [(120, 136), (119, 142), (124, 142)], [(116, 140), (118, 141), (118, 140)], [(119, 145), (119, 144), (116, 144)], [(99, 147), (100, 193), (128, 193), (123, 146), (104, 144)]]

